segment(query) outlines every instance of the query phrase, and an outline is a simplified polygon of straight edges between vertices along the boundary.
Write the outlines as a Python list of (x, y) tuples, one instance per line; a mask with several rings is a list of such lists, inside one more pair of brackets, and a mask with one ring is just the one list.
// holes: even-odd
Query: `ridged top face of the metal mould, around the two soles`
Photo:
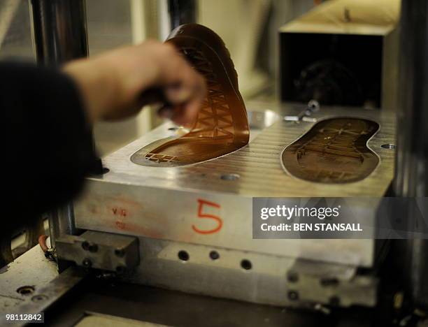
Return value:
[[(296, 110), (298, 112), (299, 108), (288, 107), (285, 110), (291, 114)], [(283, 173), (280, 152), (311, 129), (313, 124), (306, 122), (276, 122), (255, 138), (251, 137), (250, 144), (241, 150), (195, 165), (157, 168), (138, 166), (129, 161), (131, 154), (141, 147), (175, 133), (169, 130), (173, 125), (166, 123), (104, 158), (110, 173), (101, 179), (90, 180), (164, 189), (225, 192), (240, 196), (383, 196), (392, 180), (394, 150), (384, 149), (381, 145), (395, 143), (394, 116), (379, 110), (336, 107), (322, 108), (313, 117), (361, 117), (378, 122), (380, 131), (369, 140), (368, 145), (380, 157), (381, 165), (365, 180), (334, 187), (301, 182)], [(254, 129), (251, 129), (250, 136), (253, 132)], [(220, 178), (224, 173), (236, 173), (240, 178), (234, 183), (224, 182)]]

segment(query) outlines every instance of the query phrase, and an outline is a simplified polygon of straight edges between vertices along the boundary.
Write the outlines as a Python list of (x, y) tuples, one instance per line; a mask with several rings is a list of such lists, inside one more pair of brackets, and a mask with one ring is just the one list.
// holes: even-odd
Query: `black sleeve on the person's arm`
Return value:
[(78, 89), (58, 70), (0, 63), (0, 109), (6, 231), (76, 196), (95, 155)]

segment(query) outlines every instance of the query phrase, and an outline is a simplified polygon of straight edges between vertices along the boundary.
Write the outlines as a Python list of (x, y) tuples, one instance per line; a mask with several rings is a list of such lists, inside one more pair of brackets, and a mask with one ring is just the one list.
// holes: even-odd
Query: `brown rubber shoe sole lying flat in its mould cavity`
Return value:
[(310, 182), (363, 180), (378, 166), (378, 156), (367, 147), (378, 129), (378, 123), (367, 119), (322, 120), (285, 148), (283, 167), (294, 177)]

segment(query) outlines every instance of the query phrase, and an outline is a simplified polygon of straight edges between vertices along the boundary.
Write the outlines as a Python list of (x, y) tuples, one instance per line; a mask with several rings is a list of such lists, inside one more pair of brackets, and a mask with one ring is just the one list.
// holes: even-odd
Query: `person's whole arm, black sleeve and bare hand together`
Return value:
[[(162, 96), (142, 99), (152, 89)], [(71, 61), (62, 70), (0, 64), (6, 215), (19, 208), (31, 219), (77, 194), (94, 166), (90, 126), (97, 120), (131, 117), (143, 103), (160, 100), (176, 123), (192, 122), (205, 93), (204, 78), (171, 45), (156, 41)]]

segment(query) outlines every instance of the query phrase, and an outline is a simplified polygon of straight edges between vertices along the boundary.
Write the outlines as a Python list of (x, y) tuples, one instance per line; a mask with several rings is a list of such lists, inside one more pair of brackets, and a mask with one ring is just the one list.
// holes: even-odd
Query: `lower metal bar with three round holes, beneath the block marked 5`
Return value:
[(376, 277), (357, 275), (355, 266), (154, 238), (140, 238), (140, 254), (125, 281), (269, 305), (376, 305)]

